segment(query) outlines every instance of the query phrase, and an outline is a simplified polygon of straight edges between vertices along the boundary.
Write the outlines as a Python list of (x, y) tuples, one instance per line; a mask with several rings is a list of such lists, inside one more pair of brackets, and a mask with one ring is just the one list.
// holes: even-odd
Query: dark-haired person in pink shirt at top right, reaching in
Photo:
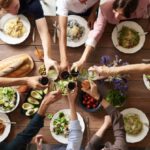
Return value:
[(89, 32), (86, 48), (81, 58), (72, 64), (73, 68), (80, 68), (95, 49), (108, 23), (118, 24), (122, 20), (149, 17), (149, 0), (101, 0), (98, 17), (93, 29)]

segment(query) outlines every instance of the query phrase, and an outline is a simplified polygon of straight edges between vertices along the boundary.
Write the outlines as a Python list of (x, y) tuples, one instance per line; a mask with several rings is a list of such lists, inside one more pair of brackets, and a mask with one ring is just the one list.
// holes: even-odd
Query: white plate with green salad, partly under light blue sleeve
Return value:
[[(85, 124), (82, 116), (77, 113), (78, 120), (80, 122), (82, 132), (85, 130)], [(58, 111), (50, 122), (50, 131), (55, 140), (60, 143), (68, 143), (69, 135), (69, 121), (70, 121), (70, 109), (63, 109)]]

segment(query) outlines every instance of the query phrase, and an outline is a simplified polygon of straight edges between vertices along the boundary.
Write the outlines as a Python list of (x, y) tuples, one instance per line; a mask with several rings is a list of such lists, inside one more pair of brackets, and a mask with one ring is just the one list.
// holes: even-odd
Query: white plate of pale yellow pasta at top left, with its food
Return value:
[(0, 39), (5, 43), (22, 43), (30, 33), (31, 25), (24, 15), (6, 14), (0, 21)]

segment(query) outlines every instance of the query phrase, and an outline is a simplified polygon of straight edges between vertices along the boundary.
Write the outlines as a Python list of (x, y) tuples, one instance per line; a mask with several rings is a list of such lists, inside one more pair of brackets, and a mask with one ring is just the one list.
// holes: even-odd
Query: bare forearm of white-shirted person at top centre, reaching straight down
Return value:
[(67, 16), (59, 16), (59, 50), (60, 50), (60, 68), (64, 70), (68, 67), (68, 60), (67, 60), (67, 52), (66, 52), (66, 45), (67, 45)]

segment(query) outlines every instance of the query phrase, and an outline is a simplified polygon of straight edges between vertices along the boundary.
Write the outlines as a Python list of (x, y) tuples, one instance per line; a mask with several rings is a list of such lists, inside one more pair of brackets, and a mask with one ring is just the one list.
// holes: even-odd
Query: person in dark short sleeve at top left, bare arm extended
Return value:
[(54, 67), (58, 71), (58, 63), (51, 58), (51, 37), (40, 0), (0, 0), (0, 8), (13, 15), (21, 13), (33, 15), (44, 49), (46, 72), (51, 67)]

